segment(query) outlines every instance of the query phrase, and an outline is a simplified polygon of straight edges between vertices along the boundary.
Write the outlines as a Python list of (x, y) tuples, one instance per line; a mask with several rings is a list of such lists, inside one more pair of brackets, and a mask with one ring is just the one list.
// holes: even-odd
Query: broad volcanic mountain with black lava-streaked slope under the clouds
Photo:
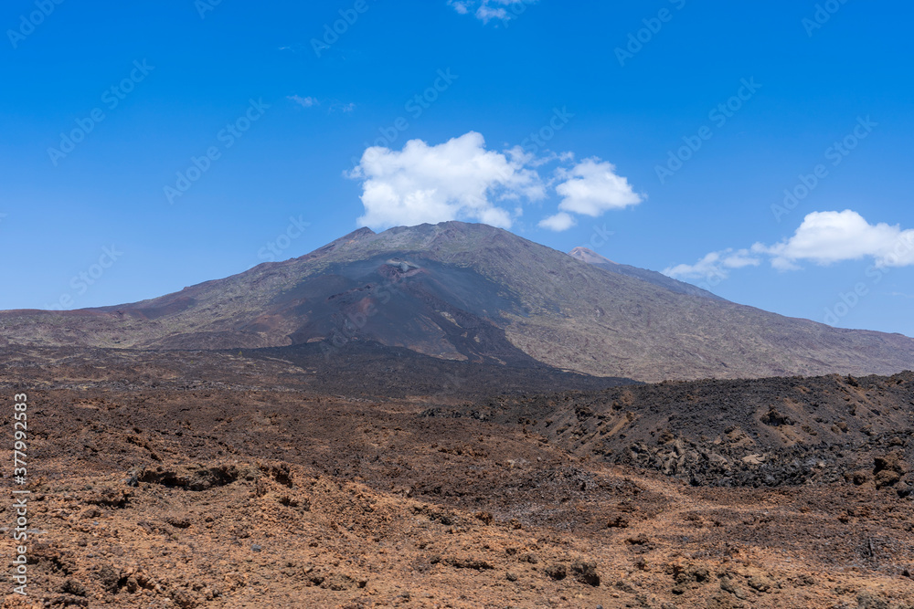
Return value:
[(639, 381), (914, 368), (914, 340), (900, 334), (786, 318), (621, 267), (492, 226), (362, 228), (306, 256), (157, 299), (3, 311), (0, 337), (131, 349), (319, 342), (328, 357), (349, 341), (376, 341), (443, 359)]

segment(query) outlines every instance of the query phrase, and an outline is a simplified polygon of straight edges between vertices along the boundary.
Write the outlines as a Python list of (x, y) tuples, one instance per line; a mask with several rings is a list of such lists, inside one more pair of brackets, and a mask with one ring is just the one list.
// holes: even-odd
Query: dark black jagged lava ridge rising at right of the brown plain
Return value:
[(692, 486), (872, 483), (914, 492), (914, 373), (833, 374), (503, 396), (432, 408), (519, 425), (569, 452)]

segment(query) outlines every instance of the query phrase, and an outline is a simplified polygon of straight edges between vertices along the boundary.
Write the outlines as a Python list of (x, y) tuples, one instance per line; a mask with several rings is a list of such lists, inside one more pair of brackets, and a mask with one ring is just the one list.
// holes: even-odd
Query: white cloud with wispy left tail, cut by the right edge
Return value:
[(726, 278), (733, 268), (758, 266), (767, 258), (778, 270), (801, 268), (802, 262), (829, 265), (870, 258), (877, 267), (914, 265), (914, 229), (885, 223), (871, 225), (855, 211), (813, 212), (792, 236), (773, 246), (757, 243), (749, 249), (711, 252), (694, 265), (664, 270), (674, 278)]

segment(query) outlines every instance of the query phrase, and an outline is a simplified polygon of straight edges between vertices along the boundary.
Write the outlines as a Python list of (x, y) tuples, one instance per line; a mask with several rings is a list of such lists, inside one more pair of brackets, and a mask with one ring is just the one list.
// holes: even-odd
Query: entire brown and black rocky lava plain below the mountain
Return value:
[(339, 394), (307, 353), (0, 355), (4, 607), (914, 606), (911, 373), (385, 396), (370, 349)]

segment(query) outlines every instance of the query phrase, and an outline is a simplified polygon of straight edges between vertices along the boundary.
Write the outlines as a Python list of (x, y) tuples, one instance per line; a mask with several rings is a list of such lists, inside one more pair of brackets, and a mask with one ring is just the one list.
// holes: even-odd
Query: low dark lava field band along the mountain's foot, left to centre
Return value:
[(480, 398), (548, 392), (556, 387), (596, 390), (631, 379), (558, 371), (533, 362), (494, 366), (455, 362), (376, 342), (238, 351), (0, 348), (8, 374), (37, 388), (138, 391), (149, 388), (280, 389), (350, 397)]

